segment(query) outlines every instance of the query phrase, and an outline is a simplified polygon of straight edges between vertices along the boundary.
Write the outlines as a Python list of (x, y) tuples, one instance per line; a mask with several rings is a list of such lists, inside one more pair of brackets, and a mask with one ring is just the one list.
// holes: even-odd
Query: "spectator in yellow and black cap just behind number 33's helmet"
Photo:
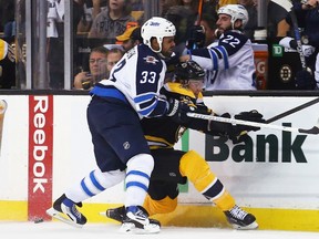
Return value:
[(141, 37), (141, 27), (131, 27), (122, 35), (117, 35), (116, 40), (122, 44), (125, 51), (134, 48), (143, 42)]

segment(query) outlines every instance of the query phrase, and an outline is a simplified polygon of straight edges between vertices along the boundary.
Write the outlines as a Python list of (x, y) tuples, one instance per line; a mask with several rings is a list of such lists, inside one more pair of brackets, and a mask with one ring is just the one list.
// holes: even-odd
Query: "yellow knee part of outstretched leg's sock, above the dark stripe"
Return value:
[(183, 155), (179, 170), (181, 174), (186, 176), (200, 193), (216, 180), (216, 176), (210, 170), (207, 162), (195, 150), (189, 150)]

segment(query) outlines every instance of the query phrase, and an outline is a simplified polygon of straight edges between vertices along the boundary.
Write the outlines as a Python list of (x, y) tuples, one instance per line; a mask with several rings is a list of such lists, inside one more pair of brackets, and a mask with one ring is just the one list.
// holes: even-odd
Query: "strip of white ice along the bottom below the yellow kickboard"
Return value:
[(120, 233), (119, 225), (89, 224), (83, 228), (74, 228), (63, 222), (0, 222), (1, 239), (319, 239), (319, 232), (249, 230), (238, 231), (217, 228), (181, 228), (163, 227), (156, 235)]

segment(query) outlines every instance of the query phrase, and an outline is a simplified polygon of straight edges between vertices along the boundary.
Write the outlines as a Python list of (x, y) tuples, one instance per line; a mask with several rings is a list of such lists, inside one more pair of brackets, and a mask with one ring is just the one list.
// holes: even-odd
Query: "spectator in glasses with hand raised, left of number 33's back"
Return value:
[(90, 72), (82, 71), (74, 77), (74, 89), (90, 90), (96, 82), (107, 77), (107, 49), (94, 48), (91, 51), (89, 67)]

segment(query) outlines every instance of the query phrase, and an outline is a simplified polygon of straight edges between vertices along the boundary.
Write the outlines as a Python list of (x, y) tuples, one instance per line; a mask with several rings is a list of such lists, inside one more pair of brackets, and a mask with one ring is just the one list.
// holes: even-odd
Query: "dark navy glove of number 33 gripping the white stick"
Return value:
[(172, 119), (178, 124), (187, 124), (192, 121), (192, 118), (187, 116), (187, 113), (195, 111), (196, 107), (194, 105), (188, 105), (175, 98), (169, 98), (166, 116), (172, 117)]

